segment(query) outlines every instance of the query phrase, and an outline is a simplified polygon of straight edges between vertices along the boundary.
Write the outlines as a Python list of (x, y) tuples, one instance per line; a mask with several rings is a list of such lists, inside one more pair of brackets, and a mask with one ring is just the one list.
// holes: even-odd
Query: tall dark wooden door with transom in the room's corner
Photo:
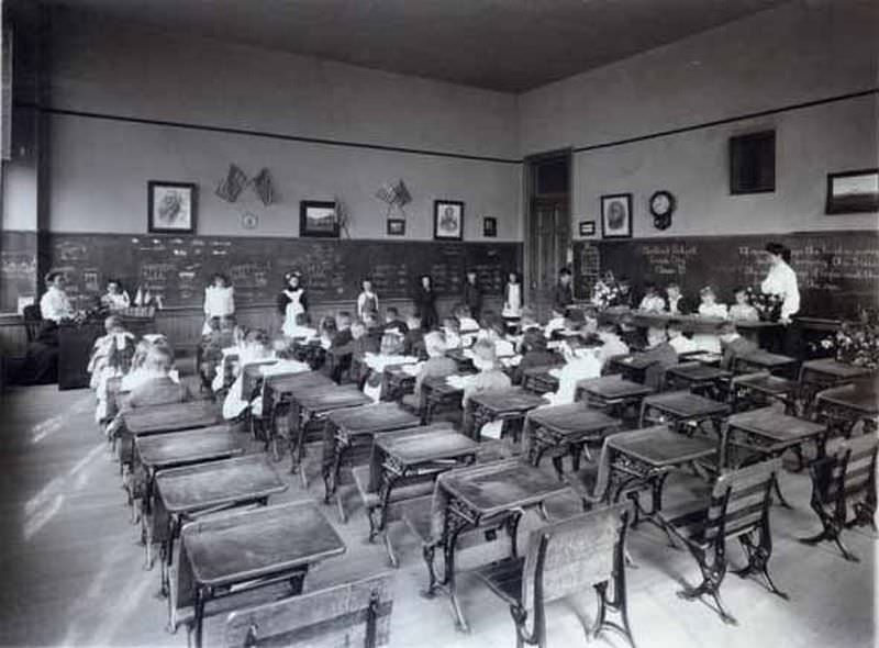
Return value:
[(570, 249), (570, 150), (530, 157), (526, 164), (526, 303), (544, 321), (553, 308), (558, 270)]

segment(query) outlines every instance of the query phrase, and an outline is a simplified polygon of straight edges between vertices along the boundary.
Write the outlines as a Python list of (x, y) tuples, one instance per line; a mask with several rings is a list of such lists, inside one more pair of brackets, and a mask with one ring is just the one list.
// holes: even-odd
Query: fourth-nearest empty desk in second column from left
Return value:
[(302, 488), (308, 488), (302, 459), (305, 455), (305, 433), (309, 425), (333, 410), (356, 407), (372, 402), (353, 384), (303, 389), (292, 394), (290, 402), (290, 472), (299, 472)]

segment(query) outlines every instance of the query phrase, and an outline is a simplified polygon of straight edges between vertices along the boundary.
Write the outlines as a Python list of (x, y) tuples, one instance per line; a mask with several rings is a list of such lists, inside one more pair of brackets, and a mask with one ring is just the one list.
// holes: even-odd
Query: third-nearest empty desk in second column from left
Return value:
[[(371, 447), (376, 434), (414, 427), (418, 424), (419, 417), (402, 410), (397, 403), (376, 403), (330, 412), (324, 429), (324, 503), (329, 503), (330, 498), (336, 494), (342, 462), (355, 445)], [(338, 498), (336, 505), (344, 521), (345, 512)]]

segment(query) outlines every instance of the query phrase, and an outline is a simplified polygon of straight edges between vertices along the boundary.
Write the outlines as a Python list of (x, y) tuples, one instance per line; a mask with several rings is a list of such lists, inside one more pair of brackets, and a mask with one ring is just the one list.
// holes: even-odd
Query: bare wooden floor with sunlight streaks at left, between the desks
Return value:
[[(176, 635), (165, 630), (158, 571), (143, 569), (143, 549), (129, 522), (116, 465), (92, 423), (90, 392), (21, 388), (0, 396), (0, 566), (7, 581), (0, 591), (0, 645), (186, 646), (183, 629)], [(319, 498), (319, 481), (308, 491), (293, 482), (278, 501)], [(679, 498), (680, 489), (670, 487), (669, 499)], [(804, 474), (786, 473), (782, 488), (794, 509), (772, 509), (770, 567), (791, 600), (769, 594), (756, 581), (730, 576), (722, 592), (738, 627), (724, 625), (705, 604), (675, 595), (682, 581), (693, 583), (698, 578), (687, 552), (670, 548), (649, 525), (631, 534), (630, 551), (637, 568), (628, 570), (630, 617), (641, 648), (874, 645), (875, 537), (848, 534), (860, 563), (843, 560), (831, 546), (798, 544), (797, 537), (819, 530), (808, 506), (809, 481)], [(335, 511), (326, 510), (345, 538), (347, 554), (312, 572), (307, 588), (385, 569), (380, 546), (364, 541), (363, 511), (353, 500), (349, 510), (347, 525), (337, 524)], [(572, 500), (549, 506), (554, 516), (577, 511)], [(521, 533), (536, 524), (526, 515)], [(508, 610), (474, 579), (460, 579), (471, 632), (456, 632), (444, 599), (419, 596), (425, 571), (414, 540), (399, 524), (392, 534), (401, 557), (393, 646), (514, 645)], [(733, 559), (742, 560), (738, 549)], [(569, 604), (553, 604), (549, 646), (585, 645), (582, 622), (593, 614), (591, 593)], [(218, 645), (215, 628), (208, 636), (207, 645)], [(610, 636), (598, 645), (625, 644)]]

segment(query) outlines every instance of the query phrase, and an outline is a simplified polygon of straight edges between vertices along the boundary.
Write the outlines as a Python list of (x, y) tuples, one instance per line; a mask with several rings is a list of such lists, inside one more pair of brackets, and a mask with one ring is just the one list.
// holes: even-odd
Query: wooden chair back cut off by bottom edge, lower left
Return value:
[(229, 615), (225, 645), (330, 648), (390, 644), (393, 582), (388, 573)]

